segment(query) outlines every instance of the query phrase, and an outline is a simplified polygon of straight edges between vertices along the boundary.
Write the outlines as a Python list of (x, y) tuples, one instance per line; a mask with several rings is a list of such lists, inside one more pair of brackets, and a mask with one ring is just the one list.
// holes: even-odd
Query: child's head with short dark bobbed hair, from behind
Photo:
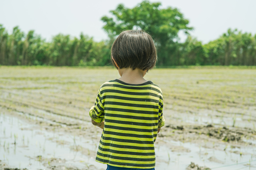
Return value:
[[(121, 32), (111, 47), (111, 56), (119, 69), (149, 70), (156, 65), (156, 47), (151, 36), (143, 30)], [(116, 67), (113, 59), (111, 61)], [(117, 68), (117, 67), (116, 67)]]

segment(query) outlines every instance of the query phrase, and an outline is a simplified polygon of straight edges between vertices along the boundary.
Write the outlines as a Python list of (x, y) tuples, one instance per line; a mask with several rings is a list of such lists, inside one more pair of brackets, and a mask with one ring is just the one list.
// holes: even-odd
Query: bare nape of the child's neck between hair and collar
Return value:
[(118, 69), (120, 74), (119, 80), (129, 83), (129, 84), (142, 84), (147, 82), (143, 77), (146, 74), (146, 70), (143, 71), (141, 69), (132, 69), (132, 68), (122, 68)]

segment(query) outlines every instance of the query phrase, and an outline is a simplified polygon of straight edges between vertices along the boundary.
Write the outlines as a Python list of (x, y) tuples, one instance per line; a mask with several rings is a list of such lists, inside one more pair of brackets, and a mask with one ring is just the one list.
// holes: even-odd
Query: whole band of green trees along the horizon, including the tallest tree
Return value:
[[(96, 42), (58, 34), (50, 42), (27, 34), (17, 26), (8, 34), (0, 24), (0, 65), (104, 66), (110, 63), (110, 48), (122, 30), (142, 29), (152, 35), (158, 49), (158, 66), (172, 65), (256, 65), (256, 35), (229, 29), (206, 44), (189, 35), (189, 21), (176, 8), (160, 8), (161, 3), (143, 1), (134, 8), (122, 4), (103, 16), (109, 39)], [(178, 32), (187, 34), (180, 43)]]

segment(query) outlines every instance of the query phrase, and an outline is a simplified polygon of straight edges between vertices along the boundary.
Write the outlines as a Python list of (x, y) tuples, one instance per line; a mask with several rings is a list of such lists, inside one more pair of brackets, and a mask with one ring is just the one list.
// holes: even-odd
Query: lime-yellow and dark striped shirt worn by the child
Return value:
[(90, 109), (92, 120), (105, 121), (96, 161), (124, 168), (154, 168), (157, 129), (164, 126), (162, 111), (162, 91), (151, 81), (104, 83)]

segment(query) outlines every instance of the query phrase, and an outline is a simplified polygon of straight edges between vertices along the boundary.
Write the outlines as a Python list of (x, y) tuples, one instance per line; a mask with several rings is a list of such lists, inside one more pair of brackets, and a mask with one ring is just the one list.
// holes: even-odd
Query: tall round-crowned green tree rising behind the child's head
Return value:
[[(116, 10), (110, 11), (113, 18), (103, 16), (103, 27), (113, 40), (123, 30), (142, 29), (154, 39), (158, 49), (159, 65), (176, 65), (178, 53), (178, 32), (188, 34), (192, 27), (188, 27), (188, 20), (176, 8), (160, 9), (160, 2), (143, 1), (132, 9), (120, 4)], [(179, 59), (178, 59), (179, 60)]]

